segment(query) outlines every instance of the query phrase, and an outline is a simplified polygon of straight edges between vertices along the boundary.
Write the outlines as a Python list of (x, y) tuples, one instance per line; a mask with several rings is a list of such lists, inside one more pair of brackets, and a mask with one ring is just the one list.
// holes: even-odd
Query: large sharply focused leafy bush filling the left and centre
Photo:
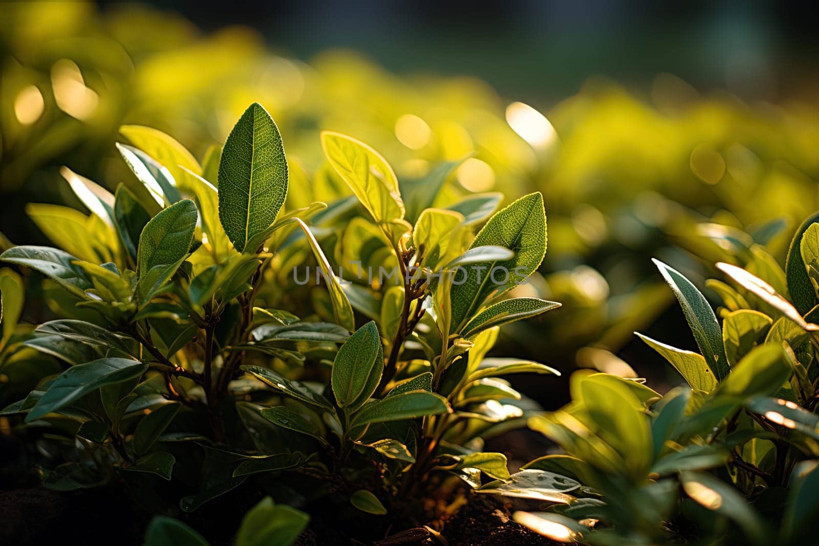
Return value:
[[(111, 195), (65, 169), (91, 214), (29, 205), (61, 249), (2, 254), (48, 279), (58, 316), (17, 327), (23, 282), (2, 270), (0, 372), (32, 389), (0, 415), (41, 433), (44, 485), (126, 481), (167, 491), (151, 509), (173, 513), (250, 482), (271, 498), (238, 544), (289, 544), (316, 499), (382, 515), (435, 476), (509, 478), (482, 438), (533, 404), (499, 377), (556, 372), (485, 355), (501, 325), (559, 305), (509, 298), (545, 255), (539, 193), (495, 214), (497, 194), (435, 208), (453, 165), (400, 187), (378, 152), (329, 132), (310, 180), (256, 103), (201, 164), (156, 129), (121, 133), (133, 180)], [(397, 273), (343, 282), (354, 263)], [(321, 282), (302, 287), (311, 264)], [(31, 354), (43, 367), (19, 365)], [(167, 519), (149, 533), (194, 536)]]

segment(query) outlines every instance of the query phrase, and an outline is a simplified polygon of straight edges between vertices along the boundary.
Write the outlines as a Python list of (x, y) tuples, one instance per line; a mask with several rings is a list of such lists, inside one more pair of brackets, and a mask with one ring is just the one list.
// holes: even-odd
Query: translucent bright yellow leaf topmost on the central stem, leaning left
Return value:
[(378, 151), (342, 133), (321, 133), (324, 156), (364, 205), (389, 241), (409, 231), (398, 178)]

